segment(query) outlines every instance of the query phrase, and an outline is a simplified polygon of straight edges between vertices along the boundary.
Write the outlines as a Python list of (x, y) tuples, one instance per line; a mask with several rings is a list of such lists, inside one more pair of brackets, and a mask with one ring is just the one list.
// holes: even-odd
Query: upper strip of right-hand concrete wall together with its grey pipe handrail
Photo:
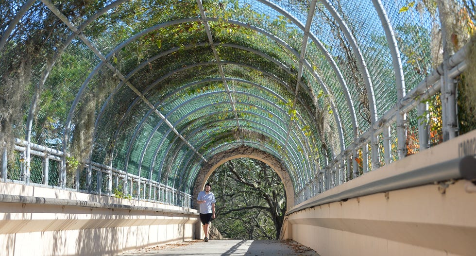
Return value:
[(411, 188), (451, 179), (472, 178), (476, 175), (476, 169), (468, 170), (468, 165), (474, 160), (469, 160), (467, 156), (474, 155), (476, 155), (476, 130), (418, 154), (409, 155), (378, 170), (364, 173), (360, 177), (293, 206), (287, 214), (308, 207), (373, 193)]

